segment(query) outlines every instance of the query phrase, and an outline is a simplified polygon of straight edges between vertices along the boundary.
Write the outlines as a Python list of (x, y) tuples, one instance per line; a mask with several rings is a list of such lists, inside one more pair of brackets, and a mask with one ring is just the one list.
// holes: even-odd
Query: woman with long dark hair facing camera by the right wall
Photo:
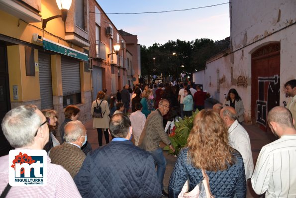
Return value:
[(236, 111), (238, 122), (241, 124), (244, 121), (245, 108), (243, 100), (239, 97), (235, 89), (229, 90), (227, 98), (222, 106), (232, 106)]

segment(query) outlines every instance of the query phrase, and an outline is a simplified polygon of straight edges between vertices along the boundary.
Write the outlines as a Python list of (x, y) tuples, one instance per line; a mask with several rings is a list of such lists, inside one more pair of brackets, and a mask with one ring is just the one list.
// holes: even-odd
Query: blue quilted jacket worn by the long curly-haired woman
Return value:
[[(183, 149), (178, 156), (169, 183), (170, 198), (177, 198), (186, 180), (189, 179), (189, 191), (192, 191), (203, 180), (200, 169), (188, 163), (188, 148)], [(246, 197), (246, 179), (243, 158), (238, 151), (232, 154), (236, 163), (225, 171), (206, 171), (209, 177), (211, 193), (215, 198)]]

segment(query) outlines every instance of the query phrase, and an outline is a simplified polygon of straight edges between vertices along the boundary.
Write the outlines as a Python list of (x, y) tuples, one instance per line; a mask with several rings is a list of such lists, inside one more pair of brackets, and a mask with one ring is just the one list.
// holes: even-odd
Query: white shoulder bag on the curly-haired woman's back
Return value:
[(189, 181), (184, 184), (181, 193), (178, 198), (215, 198), (209, 188), (209, 179), (204, 169), (201, 169), (203, 180), (197, 184), (197, 186), (189, 191)]

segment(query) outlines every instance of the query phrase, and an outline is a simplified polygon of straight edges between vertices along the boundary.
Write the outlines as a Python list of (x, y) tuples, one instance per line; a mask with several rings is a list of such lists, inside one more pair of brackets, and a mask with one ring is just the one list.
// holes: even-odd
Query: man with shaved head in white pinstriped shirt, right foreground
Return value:
[(283, 106), (272, 108), (267, 122), (280, 139), (262, 147), (254, 174), (252, 187), (265, 198), (296, 197), (296, 130), (291, 111)]

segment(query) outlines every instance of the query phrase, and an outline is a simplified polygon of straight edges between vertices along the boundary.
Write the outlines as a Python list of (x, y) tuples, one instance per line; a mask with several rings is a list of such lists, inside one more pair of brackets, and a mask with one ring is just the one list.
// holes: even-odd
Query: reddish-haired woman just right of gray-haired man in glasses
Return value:
[(41, 112), (46, 117), (47, 125), (49, 128), (49, 134), (50, 134), (49, 141), (44, 146), (44, 150), (46, 150), (46, 152), (49, 155), (51, 148), (60, 145), (60, 142), (55, 137), (56, 136), (56, 129), (57, 129), (57, 125), (58, 125), (57, 112), (52, 109), (45, 109), (45, 110), (42, 110)]

